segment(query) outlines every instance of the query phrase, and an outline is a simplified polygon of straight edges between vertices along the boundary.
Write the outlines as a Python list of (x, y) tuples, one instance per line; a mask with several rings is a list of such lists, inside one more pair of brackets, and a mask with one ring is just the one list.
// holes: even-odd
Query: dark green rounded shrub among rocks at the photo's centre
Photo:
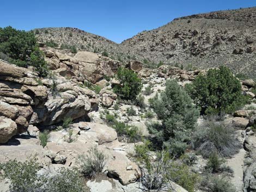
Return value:
[(114, 92), (126, 100), (135, 100), (142, 89), (141, 79), (132, 70), (119, 67), (117, 79), (120, 84), (114, 85)]

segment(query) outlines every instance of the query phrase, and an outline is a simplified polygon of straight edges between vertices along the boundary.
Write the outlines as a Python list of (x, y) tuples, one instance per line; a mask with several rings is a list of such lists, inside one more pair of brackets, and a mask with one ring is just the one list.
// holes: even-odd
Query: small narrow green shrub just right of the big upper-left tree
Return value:
[(44, 53), (38, 47), (31, 53), (29, 64), (35, 67), (39, 77), (46, 77), (48, 74), (47, 63), (44, 59)]

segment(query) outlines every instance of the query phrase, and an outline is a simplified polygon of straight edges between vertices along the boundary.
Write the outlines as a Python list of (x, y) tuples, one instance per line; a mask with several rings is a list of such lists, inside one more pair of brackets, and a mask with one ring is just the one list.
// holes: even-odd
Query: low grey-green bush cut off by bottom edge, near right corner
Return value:
[(236, 192), (234, 184), (229, 179), (219, 175), (207, 175), (201, 182), (201, 187), (207, 192)]

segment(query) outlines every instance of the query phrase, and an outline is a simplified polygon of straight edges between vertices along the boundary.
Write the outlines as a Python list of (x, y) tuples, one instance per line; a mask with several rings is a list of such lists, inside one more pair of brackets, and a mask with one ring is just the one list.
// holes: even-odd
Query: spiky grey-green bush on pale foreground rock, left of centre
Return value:
[(92, 147), (88, 154), (80, 154), (78, 163), (80, 164), (81, 172), (88, 178), (99, 175), (106, 164), (107, 157), (100, 152), (97, 147)]

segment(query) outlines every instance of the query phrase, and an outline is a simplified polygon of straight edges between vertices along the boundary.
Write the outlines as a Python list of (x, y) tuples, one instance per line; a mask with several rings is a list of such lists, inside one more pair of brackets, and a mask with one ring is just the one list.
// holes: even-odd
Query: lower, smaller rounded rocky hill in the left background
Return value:
[[(41, 28), (35, 29), (36, 36), (39, 41), (54, 42), (56, 48), (75, 46), (82, 51), (94, 53), (106, 52), (109, 57), (120, 61), (136, 58), (137, 53), (123, 47), (115, 42), (103, 38), (102, 36), (84, 32), (83, 30), (70, 27), (60, 28)], [(140, 58), (142, 59), (142, 58)]]

